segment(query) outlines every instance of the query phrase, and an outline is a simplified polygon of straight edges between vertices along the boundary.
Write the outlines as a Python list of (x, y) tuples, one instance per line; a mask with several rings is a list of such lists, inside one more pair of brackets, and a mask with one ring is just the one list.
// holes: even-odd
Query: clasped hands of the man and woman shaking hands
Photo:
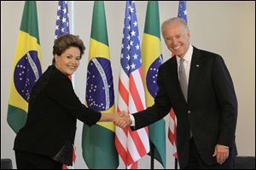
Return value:
[(129, 113), (126, 111), (121, 111), (115, 114), (115, 116), (113, 117), (113, 124), (121, 128), (130, 126), (131, 119), (130, 119)]

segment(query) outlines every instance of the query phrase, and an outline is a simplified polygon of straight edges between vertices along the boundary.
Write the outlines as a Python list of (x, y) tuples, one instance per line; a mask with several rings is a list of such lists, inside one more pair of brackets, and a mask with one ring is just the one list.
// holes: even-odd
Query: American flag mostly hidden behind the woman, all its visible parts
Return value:
[[(57, 19), (55, 27), (55, 39), (63, 34), (69, 33), (69, 20), (68, 20), (68, 7), (67, 1), (59, 1), (57, 9)], [(69, 77), (72, 80), (72, 76)], [(74, 163), (76, 160), (75, 150), (73, 149), (73, 166), (67, 166), (63, 164), (62, 169), (74, 169)]]

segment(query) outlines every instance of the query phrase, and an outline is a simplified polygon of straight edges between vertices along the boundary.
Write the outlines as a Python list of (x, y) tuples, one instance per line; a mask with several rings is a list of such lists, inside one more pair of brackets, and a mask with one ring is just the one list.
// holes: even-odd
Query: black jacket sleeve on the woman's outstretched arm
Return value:
[(63, 110), (88, 126), (96, 124), (101, 118), (100, 112), (90, 110), (80, 102), (67, 77), (51, 78), (47, 87), (47, 94), (49, 98), (55, 101), (56, 105), (60, 105)]

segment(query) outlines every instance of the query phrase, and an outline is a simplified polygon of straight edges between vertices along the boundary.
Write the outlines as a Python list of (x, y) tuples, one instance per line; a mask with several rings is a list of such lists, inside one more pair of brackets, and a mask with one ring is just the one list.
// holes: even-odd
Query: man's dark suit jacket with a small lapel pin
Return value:
[(179, 85), (176, 57), (160, 66), (158, 86), (154, 105), (133, 115), (136, 125), (133, 129), (160, 120), (172, 107), (177, 116), (177, 156), (180, 167), (186, 167), (189, 161), (190, 129), (201, 159), (208, 165), (217, 163), (216, 157), (212, 157), (216, 144), (229, 146), (231, 155), (236, 156), (236, 94), (221, 56), (194, 48), (189, 72), (188, 102)]

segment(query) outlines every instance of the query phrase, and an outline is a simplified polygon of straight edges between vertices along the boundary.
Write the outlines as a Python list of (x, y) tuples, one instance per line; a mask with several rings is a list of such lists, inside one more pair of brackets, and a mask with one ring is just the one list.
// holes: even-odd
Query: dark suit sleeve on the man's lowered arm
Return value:
[(218, 133), (218, 144), (232, 147), (235, 141), (237, 100), (230, 72), (224, 59), (218, 55), (212, 67), (213, 85), (221, 107), (221, 120)]

